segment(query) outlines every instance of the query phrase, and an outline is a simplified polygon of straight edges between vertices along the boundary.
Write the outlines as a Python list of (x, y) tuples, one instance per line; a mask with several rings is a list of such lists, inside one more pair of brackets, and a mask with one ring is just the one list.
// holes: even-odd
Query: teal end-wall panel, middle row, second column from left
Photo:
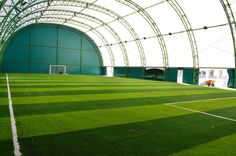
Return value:
[(51, 47), (31, 47), (31, 62), (32, 63), (48, 63), (56, 64), (57, 49)]

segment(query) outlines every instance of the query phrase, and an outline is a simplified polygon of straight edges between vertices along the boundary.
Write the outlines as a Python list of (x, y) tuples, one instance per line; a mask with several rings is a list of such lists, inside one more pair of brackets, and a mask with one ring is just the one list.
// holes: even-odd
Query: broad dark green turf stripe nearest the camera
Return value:
[(233, 133), (236, 133), (234, 122), (190, 114), (25, 138), (20, 139), (20, 144), (26, 156), (165, 156)]

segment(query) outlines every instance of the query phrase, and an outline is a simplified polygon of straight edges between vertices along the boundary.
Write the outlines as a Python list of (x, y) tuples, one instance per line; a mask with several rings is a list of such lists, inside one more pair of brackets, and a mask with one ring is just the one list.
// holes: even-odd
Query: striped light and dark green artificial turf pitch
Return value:
[[(25, 156), (236, 155), (236, 92), (102, 76), (10, 74)], [(218, 99), (216, 99), (218, 98)], [(5, 75), (0, 153), (12, 155)]]

